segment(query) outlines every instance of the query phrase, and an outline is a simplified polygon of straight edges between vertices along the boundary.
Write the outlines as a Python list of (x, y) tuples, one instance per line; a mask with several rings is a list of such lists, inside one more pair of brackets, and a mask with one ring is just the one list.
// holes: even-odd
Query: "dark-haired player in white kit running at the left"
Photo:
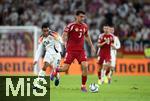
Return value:
[[(39, 79), (43, 78), (46, 75), (45, 71), (47, 67), (49, 66), (53, 68), (59, 67), (61, 60), (60, 53), (62, 51), (61, 50), (62, 39), (57, 32), (51, 31), (49, 29), (49, 25), (46, 23), (42, 25), (42, 32), (43, 34), (39, 38), (39, 46), (36, 51), (33, 63), (35, 65), (39, 60), (43, 51), (46, 50), (43, 60), (44, 65), (38, 74)], [(51, 78), (51, 80), (53, 79), (54, 78)], [(55, 86), (58, 86), (58, 84), (59, 84), (59, 74), (58, 76), (56, 76)]]

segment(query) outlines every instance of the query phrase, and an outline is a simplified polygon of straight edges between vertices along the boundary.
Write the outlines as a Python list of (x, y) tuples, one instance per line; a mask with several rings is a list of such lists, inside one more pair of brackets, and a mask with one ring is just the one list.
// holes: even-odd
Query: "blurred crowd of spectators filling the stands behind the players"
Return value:
[[(0, 0), (0, 25), (41, 27), (48, 22), (62, 34), (66, 24), (74, 20), (76, 9), (86, 11), (95, 47), (104, 24), (114, 25), (122, 48), (134, 42), (150, 47), (149, 0)], [(85, 47), (90, 57), (90, 48)]]

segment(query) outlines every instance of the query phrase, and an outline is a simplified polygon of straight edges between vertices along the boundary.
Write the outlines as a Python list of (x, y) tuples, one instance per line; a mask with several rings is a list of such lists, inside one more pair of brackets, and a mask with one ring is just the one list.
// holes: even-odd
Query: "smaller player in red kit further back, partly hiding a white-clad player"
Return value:
[(103, 27), (104, 33), (102, 33), (99, 36), (98, 39), (98, 84), (102, 84), (103, 81), (103, 76), (105, 72), (109, 69), (110, 63), (111, 63), (111, 44), (114, 42), (114, 37), (112, 34), (109, 33), (109, 26), (104, 26)]

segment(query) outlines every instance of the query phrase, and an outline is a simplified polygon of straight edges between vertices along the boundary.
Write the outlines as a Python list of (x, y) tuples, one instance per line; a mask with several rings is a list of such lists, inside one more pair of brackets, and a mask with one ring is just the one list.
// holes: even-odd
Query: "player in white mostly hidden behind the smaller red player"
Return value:
[[(111, 34), (114, 34), (114, 27), (109, 27), (109, 32)], [(106, 72), (108, 83), (111, 83), (111, 77), (116, 67), (117, 50), (120, 49), (120, 47), (121, 47), (121, 44), (120, 44), (119, 38), (116, 35), (114, 35), (114, 43), (111, 44), (111, 64), (110, 64), (111, 67), (110, 67), (110, 71), (108, 71), (108, 73)], [(105, 82), (107, 82), (107, 79)]]

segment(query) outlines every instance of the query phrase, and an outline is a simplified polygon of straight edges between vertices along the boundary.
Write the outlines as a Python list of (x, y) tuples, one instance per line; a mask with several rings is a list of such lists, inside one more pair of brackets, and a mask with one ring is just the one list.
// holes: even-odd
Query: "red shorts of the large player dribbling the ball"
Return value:
[(87, 60), (87, 56), (84, 50), (82, 51), (68, 51), (65, 55), (64, 63), (71, 64), (74, 59), (77, 59), (79, 63)]

